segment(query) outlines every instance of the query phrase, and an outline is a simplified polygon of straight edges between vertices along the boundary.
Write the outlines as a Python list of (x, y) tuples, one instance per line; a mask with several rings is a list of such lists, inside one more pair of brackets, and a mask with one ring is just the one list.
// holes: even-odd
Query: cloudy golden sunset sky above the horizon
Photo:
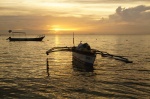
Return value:
[(150, 0), (1, 0), (8, 29), (150, 34)]

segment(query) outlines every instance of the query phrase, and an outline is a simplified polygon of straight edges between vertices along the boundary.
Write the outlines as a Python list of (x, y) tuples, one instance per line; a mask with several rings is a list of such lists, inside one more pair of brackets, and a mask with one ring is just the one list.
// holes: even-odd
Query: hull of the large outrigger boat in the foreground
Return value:
[(93, 64), (96, 58), (95, 54), (73, 52), (72, 56), (74, 67), (85, 71), (93, 71)]

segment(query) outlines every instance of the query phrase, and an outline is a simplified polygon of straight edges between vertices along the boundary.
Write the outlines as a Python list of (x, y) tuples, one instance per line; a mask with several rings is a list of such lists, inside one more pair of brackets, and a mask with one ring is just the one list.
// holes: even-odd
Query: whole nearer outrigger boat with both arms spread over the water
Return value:
[(124, 58), (123, 56), (112, 55), (107, 52), (91, 49), (88, 43), (81, 43), (76, 47), (53, 47), (46, 51), (46, 54), (58, 51), (69, 51), (72, 52), (73, 66), (77, 68), (85, 69), (86, 71), (93, 70), (93, 64), (96, 59), (96, 55), (100, 54), (102, 57), (109, 57), (116, 60), (123, 61), (125, 63), (132, 63), (132, 61)]

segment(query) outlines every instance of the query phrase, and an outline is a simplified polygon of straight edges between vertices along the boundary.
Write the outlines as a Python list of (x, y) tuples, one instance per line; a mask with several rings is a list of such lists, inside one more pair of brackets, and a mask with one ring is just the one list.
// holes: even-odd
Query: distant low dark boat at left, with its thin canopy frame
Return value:
[[(12, 32), (12, 30), (9, 30), (8, 32), (9, 33), (24, 33), (25, 34), (25, 32)], [(9, 37), (9, 38), (7, 38), (7, 40), (9, 40), (9, 41), (42, 41), (44, 37), (45, 37), (44, 35), (41, 35), (41, 36), (38, 36), (38, 37), (35, 37), (35, 38)]]

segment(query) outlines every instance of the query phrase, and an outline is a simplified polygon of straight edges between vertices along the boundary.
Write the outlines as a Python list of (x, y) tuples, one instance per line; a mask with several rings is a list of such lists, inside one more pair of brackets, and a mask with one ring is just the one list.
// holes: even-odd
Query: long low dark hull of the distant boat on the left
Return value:
[(43, 37), (39, 37), (39, 38), (11, 38), (9, 37), (8, 40), (9, 41), (42, 41), (44, 38)]

